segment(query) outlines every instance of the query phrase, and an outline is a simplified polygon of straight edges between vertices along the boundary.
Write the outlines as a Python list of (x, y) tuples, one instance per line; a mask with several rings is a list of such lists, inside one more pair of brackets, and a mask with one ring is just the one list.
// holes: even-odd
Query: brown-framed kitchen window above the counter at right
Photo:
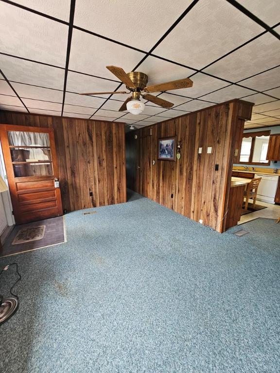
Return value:
[(240, 163), (269, 164), (266, 160), (270, 131), (243, 134)]

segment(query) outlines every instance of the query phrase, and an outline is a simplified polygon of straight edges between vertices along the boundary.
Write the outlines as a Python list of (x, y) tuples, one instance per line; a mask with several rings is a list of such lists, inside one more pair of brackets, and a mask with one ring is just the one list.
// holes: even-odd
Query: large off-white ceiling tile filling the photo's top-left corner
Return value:
[(65, 67), (67, 25), (2, 1), (0, 14), (1, 52)]

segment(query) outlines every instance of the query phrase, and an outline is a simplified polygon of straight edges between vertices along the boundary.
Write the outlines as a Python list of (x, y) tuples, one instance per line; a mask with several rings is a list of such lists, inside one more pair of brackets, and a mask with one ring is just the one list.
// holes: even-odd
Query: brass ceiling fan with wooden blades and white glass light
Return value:
[[(139, 71), (131, 71), (126, 74), (122, 68), (117, 66), (106, 66), (118, 79), (120, 79), (126, 88), (132, 92), (132, 96), (128, 97), (119, 111), (128, 110), (132, 114), (140, 114), (145, 108), (145, 104), (140, 101), (140, 96), (147, 101), (156, 103), (157, 105), (170, 109), (174, 103), (160, 99), (159, 97), (150, 95), (152, 92), (170, 91), (172, 89), (192, 87), (192, 80), (189, 78), (174, 80), (156, 85), (148, 85), (148, 75)], [(80, 93), (80, 95), (107, 95), (107, 94), (128, 94), (129, 92), (90, 92)]]

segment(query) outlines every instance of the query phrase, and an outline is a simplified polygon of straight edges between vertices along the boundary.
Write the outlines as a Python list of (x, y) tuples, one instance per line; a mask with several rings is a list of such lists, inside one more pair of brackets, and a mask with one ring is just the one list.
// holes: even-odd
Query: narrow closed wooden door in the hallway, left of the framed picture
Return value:
[(152, 136), (140, 138), (138, 162), (138, 193), (151, 198)]

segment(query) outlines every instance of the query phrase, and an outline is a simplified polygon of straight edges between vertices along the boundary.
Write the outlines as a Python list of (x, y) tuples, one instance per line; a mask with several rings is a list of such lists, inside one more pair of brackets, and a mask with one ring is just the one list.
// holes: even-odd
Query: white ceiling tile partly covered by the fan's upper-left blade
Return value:
[(143, 56), (144, 54), (138, 51), (74, 29), (69, 68), (103, 78), (115, 79), (116, 77), (106, 68), (106, 65), (120, 66), (124, 71), (129, 72)]

